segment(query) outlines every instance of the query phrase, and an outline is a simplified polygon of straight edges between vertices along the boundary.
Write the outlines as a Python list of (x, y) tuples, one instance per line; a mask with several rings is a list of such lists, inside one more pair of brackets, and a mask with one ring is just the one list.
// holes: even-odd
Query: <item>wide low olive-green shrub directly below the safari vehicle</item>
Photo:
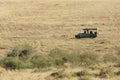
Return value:
[(68, 62), (72, 63), (73, 65), (90, 66), (90, 65), (97, 64), (98, 61), (99, 61), (99, 57), (97, 54), (73, 53), (68, 55)]

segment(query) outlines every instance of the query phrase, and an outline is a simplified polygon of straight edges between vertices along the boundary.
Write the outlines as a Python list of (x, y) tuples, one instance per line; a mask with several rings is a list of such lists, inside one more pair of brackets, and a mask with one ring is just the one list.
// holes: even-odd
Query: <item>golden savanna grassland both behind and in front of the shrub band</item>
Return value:
[[(0, 0), (0, 59), (24, 44), (32, 45), (37, 54), (48, 55), (58, 48), (69, 54), (94, 53), (100, 57), (100, 64), (92, 69), (69, 64), (15, 71), (0, 68), (0, 80), (120, 80), (120, 61), (114, 61), (120, 57), (119, 9), (119, 0)], [(74, 38), (87, 27), (98, 28), (98, 37)], [(112, 72), (118, 76), (109, 75)]]

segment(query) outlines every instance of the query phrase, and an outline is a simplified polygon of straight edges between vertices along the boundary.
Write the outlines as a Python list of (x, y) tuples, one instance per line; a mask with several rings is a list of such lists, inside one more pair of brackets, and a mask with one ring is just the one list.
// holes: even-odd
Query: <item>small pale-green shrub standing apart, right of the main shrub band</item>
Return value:
[(113, 54), (105, 54), (103, 56), (104, 62), (117, 62), (117, 57)]

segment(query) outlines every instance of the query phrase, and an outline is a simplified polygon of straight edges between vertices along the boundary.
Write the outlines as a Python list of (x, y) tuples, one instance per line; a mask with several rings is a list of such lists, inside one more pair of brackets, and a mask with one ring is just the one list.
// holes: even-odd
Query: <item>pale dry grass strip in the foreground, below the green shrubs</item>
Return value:
[[(89, 69), (83, 68), (66, 68), (66, 69), (49, 69), (46, 71), (40, 70), (39, 72), (34, 72), (34, 70), (19, 70), (19, 71), (5, 71), (2, 70), (0, 73), (0, 80), (81, 80), (87, 78), (89, 80), (119, 80), (119, 76), (111, 77), (110, 78), (100, 78), (90, 76), (93, 75), (95, 72)], [(81, 77), (74, 76), (74, 74), (78, 71), (87, 70), (89, 71), (89, 75), (83, 75)], [(57, 73), (56, 76), (51, 76), (53, 73)], [(59, 77), (60, 76), (60, 77)]]

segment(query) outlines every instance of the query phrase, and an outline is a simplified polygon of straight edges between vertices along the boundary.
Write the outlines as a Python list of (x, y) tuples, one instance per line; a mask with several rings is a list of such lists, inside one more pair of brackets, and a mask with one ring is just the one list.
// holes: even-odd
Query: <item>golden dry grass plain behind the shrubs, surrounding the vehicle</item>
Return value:
[[(37, 46), (42, 53), (56, 47), (115, 52), (120, 47), (119, 7), (119, 0), (0, 1), (0, 52), (24, 43)], [(98, 38), (73, 39), (82, 28), (94, 26), (99, 29)]]

